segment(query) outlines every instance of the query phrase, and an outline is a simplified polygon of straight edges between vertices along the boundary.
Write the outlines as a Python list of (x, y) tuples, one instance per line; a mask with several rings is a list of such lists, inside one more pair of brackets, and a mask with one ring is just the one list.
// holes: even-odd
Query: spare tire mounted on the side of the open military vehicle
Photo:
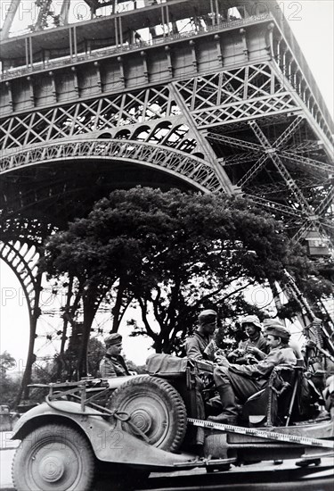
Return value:
[[(175, 452), (183, 442), (187, 412), (181, 395), (166, 380), (150, 375), (128, 380), (110, 395), (107, 408), (126, 412), (152, 446)], [(122, 427), (140, 437), (126, 421)]]

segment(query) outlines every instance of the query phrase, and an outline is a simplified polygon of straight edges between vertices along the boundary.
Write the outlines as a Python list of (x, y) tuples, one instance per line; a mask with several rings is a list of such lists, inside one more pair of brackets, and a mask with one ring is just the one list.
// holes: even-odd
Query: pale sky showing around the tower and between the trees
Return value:
[[(60, 0), (54, 0), (54, 2), (60, 4)], [(74, 2), (77, 5), (80, 4), (79, 0), (74, 0)], [(9, 4), (9, 0), (3, 1), (1, 4), (2, 21), (4, 21), (5, 4)], [(31, 4), (30, 0), (24, 0), (24, 12), (21, 19), (24, 25), (17, 24), (16, 29), (23, 29), (25, 25), (29, 24), (29, 15), (31, 15), (29, 4)], [(297, 2), (284, 0), (280, 2), (280, 7), (297, 37), (297, 42), (311, 71), (313, 71), (314, 79), (322, 92), (330, 113), (333, 115), (334, 0), (298, 0)], [(77, 10), (76, 12), (81, 11)], [(56, 312), (61, 304), (61, 299), (52, 296), (49, 290), (45, 290), (44, 295), (44, 309), (51, 313)], [(265, 295), (265, 293), (258, 292), (257, 303), (262, 302), (259, 298), (263, 298)], [(133, 314), (134, 312), (130, 312), (130, 317)], [(42, 316), (42, 318), (38, 328), (41, 337), (38, 337), (36, 342), (35, 352), (37, 356), (55, 353), (58, 344), (54, 340), (54, 333), (61, 329), (61, 320), (56, 320), (54, 315)], [(101, 320), (99, 326), (94, 325), (94, 328), (102, 327), (102, 329), (108, 330), (109, 326), (110, 318), (107, 315)], [(121, 326), (120, 332), (124, 335), (123, 345), (127, 358), (138, 364), (144, 363), (150, 353), (151, 340), (146, 338), (139, 342), (137, 337), (128, 337), (130, 329), (126, 327), (126, 324)], [(52, 340), (46, 339), (47, 333), (53, 335)], [(20, 283), (12, 270), (0, 260), (0, 353), (3, 353), (4, 350), (8, 351), (16, 359), (17, 368), (23, 369), (28, 343), (28, 308)]]

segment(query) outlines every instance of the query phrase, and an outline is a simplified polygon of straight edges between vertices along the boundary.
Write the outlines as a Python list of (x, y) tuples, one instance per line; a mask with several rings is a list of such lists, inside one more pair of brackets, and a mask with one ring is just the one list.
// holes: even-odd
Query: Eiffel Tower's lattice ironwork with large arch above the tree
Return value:
[(248, 196), (312, 254), (333, 245), (333, 123), (276, 1), (79, 7), (37, 0), (18, 36), (12, 0), (1, 31), (0, 257), (28, 299), (30, 357), (40, 245), (115, 188)]

